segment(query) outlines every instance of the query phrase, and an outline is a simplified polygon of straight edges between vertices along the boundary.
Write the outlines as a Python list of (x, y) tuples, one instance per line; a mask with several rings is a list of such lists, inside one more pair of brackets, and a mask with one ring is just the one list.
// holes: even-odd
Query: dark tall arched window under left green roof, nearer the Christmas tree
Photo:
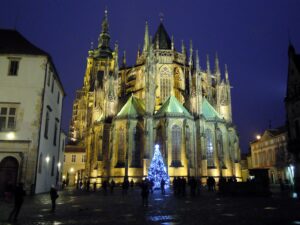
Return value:
[(140, 127), (135, 127), (133, 129), (133, 141), (131, 167), (140, 167), (141, 152), (143, 150), (143, 130)]

